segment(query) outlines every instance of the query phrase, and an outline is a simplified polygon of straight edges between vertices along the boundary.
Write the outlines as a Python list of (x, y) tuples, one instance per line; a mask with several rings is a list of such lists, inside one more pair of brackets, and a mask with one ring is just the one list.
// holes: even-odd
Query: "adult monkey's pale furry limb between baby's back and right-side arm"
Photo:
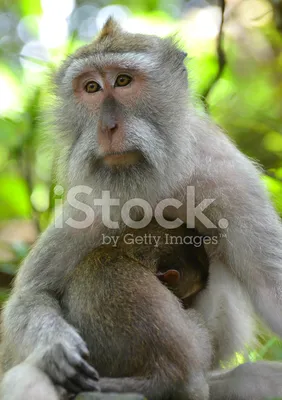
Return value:
[(213, 368), (256, 344), (256, 324), (247, 290), (222, 262), (210, 264), (207, 286), (193, 301), (213, 344)]

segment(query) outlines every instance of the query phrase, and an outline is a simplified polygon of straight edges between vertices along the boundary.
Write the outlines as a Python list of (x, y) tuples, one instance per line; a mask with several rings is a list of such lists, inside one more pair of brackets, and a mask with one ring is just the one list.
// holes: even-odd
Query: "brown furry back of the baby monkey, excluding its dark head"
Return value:
[(77, 266), (62, 296), (64, 317), (86, 341), (101, 376), (148, 376), (158, 369), (173, 381), (188, 379), (190, 360), (200, 368), (209, 349), (198, 345), (206, 335), (198, 316), (187, 316), (155, 276), (160, 254), (173, 246), (157, 227), (159, 247), (128, 246), (128, 233), (117, 247), (101, 246)]

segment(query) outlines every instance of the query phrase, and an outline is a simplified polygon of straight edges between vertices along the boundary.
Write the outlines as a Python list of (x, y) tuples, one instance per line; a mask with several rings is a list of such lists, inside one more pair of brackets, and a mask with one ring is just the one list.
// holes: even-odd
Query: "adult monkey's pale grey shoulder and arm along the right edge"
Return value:
[[(203, 140), (201, 151), (205, 157), (192, 183), (196, 204), (215, 199), (203, 211), (220, 233), (219, 244), (210, 254), (214, 261), (230, 267), (246, 287), (258, 313), (282, 336), (281, 221), (256, 166), (220, 132), (215, 135), (212, 148)], [(222, 218), (227, 228), (221, 227)], [(198, 229), (212, 232), (202, 224)]]

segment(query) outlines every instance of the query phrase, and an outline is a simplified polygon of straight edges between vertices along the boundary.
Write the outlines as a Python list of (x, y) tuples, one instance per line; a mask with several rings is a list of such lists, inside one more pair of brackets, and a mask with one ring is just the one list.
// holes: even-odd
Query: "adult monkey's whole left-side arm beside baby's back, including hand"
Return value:
[[(96, 371), (84, 361), (87, 347), (64, 320), (59, 298), (68, 274), (99, 239), (98, 228), (74, 232), (67, 226), (59, 229), (54, 225), (40, 237), (20, 268), (3, 312), (4, 353), (10, 353), (7, 359), (17, 355), (6, 369), (26, 359), (57, 384), (73, 377), (79, 369), (79, 381), (72, 382), (68, 389), (76, 391), (72, 390), (74, 385), (77, 391), (96, 389)], [(60, 368), (56, 369), (54, 363)]]

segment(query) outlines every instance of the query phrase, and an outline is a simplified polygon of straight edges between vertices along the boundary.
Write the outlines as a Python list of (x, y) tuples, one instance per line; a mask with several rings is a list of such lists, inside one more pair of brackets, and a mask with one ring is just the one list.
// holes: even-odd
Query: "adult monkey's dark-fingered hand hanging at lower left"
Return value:
[(72, 328), (51, 345), (36, 349), (27, 359), (69, 393), (100, 391), (99, 374), (86, 361), (89, 351)]

